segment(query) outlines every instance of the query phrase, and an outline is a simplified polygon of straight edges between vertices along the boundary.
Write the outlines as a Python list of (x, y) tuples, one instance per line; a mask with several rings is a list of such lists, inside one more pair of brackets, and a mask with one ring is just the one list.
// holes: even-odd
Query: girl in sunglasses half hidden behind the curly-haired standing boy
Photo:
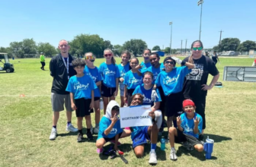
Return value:
[[(95, 56), (92, 54), (92, 52), (85, 53), (85, 70), (84, 73), (91, 76), (92, 80), (94, 80), (94, 83), (96, 83), (96, 86), (98, 87), (96, 90), (94, 90), (94, 112), (95, 112), (95, 128), (94, 128), (94, 134), (98, 134), (99, 130), (99, 123), (101, 119), (101, 110), (100, 110), (100, 98), (101, 98), (101, 73), (97, 67), (94, 66)], [(91, 129), (93, 127), (91, 126)]]

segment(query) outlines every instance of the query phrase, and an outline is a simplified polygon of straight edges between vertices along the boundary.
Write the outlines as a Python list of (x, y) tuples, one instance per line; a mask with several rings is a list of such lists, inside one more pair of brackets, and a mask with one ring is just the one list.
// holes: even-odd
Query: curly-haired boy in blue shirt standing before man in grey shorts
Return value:
[[(91, 112), (94, 107), (94, 90), (98, 87), (94, 80), (83, 73), (85, 70), (85, 60), (81, 58), (72, 61), (72, 66), (76, 71), (76, 75), (70, 77), (66, 91), (70, 93), (71, 106), (75, 109), (78, 124), (78, 138), (77, 141), (83, 140), (82, 134), (82, 120), (85, 117), (87, 126), (88, 140), (93, 140), (91, 134)], [(75, 99), (75, 100), (74, 100)]]

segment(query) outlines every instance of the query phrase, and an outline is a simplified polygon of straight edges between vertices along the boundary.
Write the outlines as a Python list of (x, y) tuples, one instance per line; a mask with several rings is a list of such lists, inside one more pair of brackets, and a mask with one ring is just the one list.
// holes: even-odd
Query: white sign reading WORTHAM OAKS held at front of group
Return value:
[(130, 106), (120, 108), (121, 128), (152, 126), (152, 118), (149, 116), (151, 106)]

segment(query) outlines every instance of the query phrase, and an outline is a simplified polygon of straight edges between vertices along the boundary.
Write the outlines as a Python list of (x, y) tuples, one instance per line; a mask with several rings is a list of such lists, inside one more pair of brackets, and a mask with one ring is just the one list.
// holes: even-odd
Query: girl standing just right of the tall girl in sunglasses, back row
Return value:
[(130, 65), (129, 65), (129, 60), (130, 60), (130, 52), (125, 50), (121, 54), (121, 64), (118, 65), (118, 69), (120, 72), (120, 78), (119, 78), (119, 87), (120, 87), (120, 99), (121, 99), (121, 107), (124, 106), (124, 99), (123, 99), (123, 93), (124, 93), (124, 76), (125, 74), (130, 71)]

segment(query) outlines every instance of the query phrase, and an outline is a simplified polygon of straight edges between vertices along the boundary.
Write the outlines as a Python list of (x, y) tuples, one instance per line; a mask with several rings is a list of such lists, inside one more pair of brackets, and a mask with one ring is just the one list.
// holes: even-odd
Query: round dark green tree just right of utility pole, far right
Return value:
[(238, 38), (225, 38), (221, 40), (220, 52), (222, 51), (236, 51), (240, 45)]

